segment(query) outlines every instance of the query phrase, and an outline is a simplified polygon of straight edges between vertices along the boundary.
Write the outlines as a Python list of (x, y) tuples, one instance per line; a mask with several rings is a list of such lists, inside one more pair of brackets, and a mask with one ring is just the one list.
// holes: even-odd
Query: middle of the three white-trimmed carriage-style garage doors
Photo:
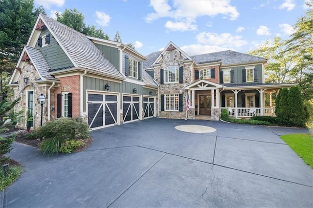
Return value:
[(140, 96), (123, 95), (123, 123), (140, 119)]

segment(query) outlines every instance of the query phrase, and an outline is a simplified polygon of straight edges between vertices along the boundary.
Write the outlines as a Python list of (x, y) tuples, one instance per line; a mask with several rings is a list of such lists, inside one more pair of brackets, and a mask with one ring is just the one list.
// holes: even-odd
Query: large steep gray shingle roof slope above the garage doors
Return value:
[(116, 78), (124, 78), (86, 35), (45, 15), (41, 15), (41, 17), (77, 66)]

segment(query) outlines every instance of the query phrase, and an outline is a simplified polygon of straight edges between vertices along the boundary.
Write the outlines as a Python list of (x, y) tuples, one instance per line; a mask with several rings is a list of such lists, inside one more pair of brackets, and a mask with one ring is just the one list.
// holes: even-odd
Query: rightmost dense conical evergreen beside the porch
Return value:
[(298, 86), (291, 87), (288, 96), (288, 109), (286, 110), (289, 121), (295, 126), (303, 127), (308, 120), (306, 113), (300, 88)]

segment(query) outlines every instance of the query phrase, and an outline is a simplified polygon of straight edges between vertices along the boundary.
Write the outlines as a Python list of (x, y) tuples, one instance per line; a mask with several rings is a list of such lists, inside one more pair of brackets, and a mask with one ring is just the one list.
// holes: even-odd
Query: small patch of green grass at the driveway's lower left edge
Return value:
[(2, 168), (0, 168), (0, 191), (13, 184), (13, 182), (19, 178), (22, 173), (21, 166), (9, 166), (9, 175), (5, 175)]

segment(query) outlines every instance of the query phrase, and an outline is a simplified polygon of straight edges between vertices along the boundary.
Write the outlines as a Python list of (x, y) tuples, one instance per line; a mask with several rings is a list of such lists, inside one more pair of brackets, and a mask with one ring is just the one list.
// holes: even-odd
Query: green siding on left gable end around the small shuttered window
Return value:
[(52, 34), (49, 32), (47, 28), (45, 28), (41, 34), (40, 37), (50, 34), (50, 43), (39, 47), (38, 41), (36, 42), (36, 48), (39, 48), (42, 54), (45, 57), (45, 60), (48, 62), (51, 69), (59, 69), (63, 67), (73, 67), (73, 63), (69, 60), (66, 53), (63, 51), (61, 46), (58, 44), (58, 42), (54, 39)]

